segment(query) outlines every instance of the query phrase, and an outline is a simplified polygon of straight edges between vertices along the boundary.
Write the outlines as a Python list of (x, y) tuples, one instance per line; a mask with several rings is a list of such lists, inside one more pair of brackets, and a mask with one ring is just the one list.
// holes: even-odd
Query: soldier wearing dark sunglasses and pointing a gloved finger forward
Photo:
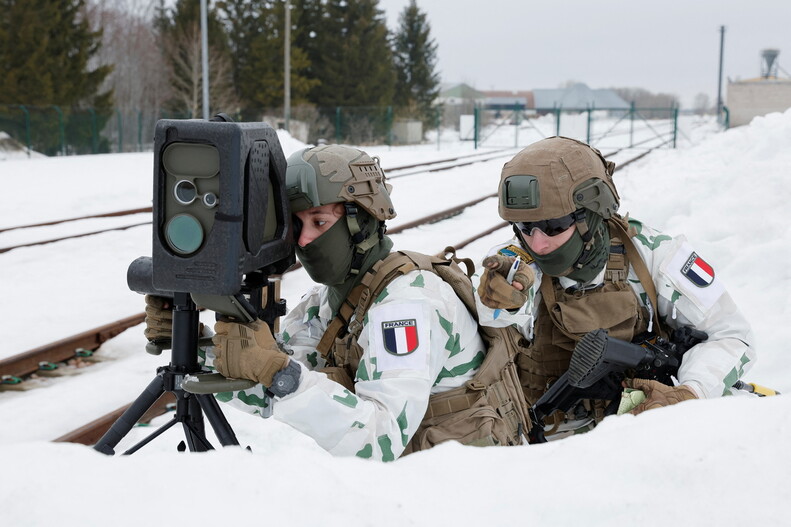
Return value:
[[(731, 394), (755, 361), (748, 322), (683, 236), (617, 214), (614, 168), (598, 150), (563, 137), (538, 141), (504, 165), (498, 210), (515, 237), (483, 261), (481, 324), (515, 324), (525, 337), (518, 364), (530, 404), (568, 368), (576, 342), (599, 328), (626, 341), (682, 326), (708, 334), (684, 354), (676, 386), (626, 381), (646, 395), (632, 413)], [(509, 282), (517, 257), (519, 279)], [(603, 406), (583, 401), (548, 428), (590, 428)]]

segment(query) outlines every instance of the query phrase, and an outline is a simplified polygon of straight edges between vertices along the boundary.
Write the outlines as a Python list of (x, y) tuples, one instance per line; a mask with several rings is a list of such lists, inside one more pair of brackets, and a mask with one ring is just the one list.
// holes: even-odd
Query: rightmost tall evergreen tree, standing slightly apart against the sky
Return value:
[(424, 121), (434, 116), (432, 103), (439, 95), (437, 44), (431, 26), (416, 0), (401, 12), (393, 42), (396, 70), (395, 103)]

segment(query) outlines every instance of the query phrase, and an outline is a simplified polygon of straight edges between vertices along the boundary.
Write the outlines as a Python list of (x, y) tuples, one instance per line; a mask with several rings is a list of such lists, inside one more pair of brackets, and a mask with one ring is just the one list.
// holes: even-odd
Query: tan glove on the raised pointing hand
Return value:
[(484, 271), (478, 285), (478, 296), (484, 305), (492, 309), (518, 309), (527, 302), (526, 292), (535, 282), (536, 275), (526, 263), (520, 261), (514, 274), (514, 283), (522, 285), (522, 290), (518, 290), (506, 281), (513, 263), (514, 258), (502, 254), (484, 258)]

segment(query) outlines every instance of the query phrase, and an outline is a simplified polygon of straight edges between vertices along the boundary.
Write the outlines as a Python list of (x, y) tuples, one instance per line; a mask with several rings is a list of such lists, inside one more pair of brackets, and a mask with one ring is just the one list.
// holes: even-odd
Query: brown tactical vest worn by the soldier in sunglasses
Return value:
[[(533, 405), (569, 367), (576, 343), (589, 331), (608, 330), (610, 336), (631, 341), (648, 328), (651, 318), (627, 280), (633, 266), (653, 306), (653, 327), (664, 336), (656, 314), (656, 289), (648, 268), (634, 247), (627, 220), (607, 221), (610, 229), (610, 252), (604, 283), (595, 289), (564, 290), (557, 278), (542, 277), (542, 300), (538, 307), (533, 341), (517, 357), (520, 382), (528, 404)], [(603, 417), (604, 403), (586, 401), (597, 420)], [(562, 415), (556, 415), (559, 424)]]

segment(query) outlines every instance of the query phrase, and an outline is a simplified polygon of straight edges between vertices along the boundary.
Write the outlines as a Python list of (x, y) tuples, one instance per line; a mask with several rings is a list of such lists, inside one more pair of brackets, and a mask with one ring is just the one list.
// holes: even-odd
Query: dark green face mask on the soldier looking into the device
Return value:
[(354, 253), (351, 236), (343, 217), (305, 247), (297, 246), (297, 258), (314, 282), (339, 285), (346, 280)]

